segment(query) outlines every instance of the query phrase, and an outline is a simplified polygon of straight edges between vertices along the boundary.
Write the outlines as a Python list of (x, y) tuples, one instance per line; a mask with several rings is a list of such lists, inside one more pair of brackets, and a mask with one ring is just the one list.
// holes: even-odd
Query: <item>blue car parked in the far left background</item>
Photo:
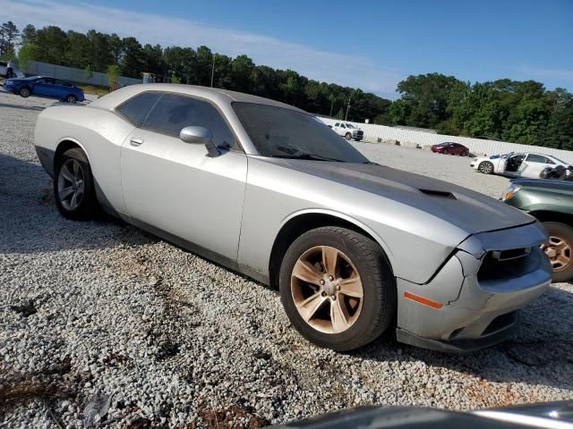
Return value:
[(67, 103), (84, 100), (83, 92), (80, 88), (73, 86), (70, 82), (66, 82), (65, 80), (49, 78), (47, 76), (4, 80), (4, 89), (14, 94), (20, 94), (21, 97), (30, 97), (30, 95), (51, 97)]

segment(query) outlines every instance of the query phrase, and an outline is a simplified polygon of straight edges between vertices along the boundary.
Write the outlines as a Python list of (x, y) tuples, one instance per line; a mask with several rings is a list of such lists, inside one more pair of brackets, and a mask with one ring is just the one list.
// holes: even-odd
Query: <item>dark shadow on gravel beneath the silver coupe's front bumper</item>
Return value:
[(552, 286), (521, 311), (515, 337), (466, 354), (418, 349), (395, 339), (375, 341), (351, 354), (374, 361), (422, 361), (485, 382), (543, 384), (573, 391), (572, 306), (573, 291)]

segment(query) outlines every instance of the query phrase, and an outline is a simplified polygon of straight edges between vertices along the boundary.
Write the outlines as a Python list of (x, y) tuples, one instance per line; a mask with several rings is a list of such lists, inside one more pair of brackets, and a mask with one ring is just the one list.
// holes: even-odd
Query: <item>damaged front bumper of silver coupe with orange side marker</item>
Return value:
[(397, 279), (398, 341), (426, 349), (483, 349), (515, 332), (517, 310), (551, 283), (540, 223), (461, 243), (429, 282)]

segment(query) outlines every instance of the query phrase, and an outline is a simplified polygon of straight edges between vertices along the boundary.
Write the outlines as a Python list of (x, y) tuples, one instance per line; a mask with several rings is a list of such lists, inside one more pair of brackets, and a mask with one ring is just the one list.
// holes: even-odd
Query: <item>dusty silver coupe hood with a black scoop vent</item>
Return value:
[(535, 222), (532, 216), (479, 192), (384, 165), (295, 159), (272, 161), (281, 161), (293, 170), (412, 206), (452, 223), (468, 234)]

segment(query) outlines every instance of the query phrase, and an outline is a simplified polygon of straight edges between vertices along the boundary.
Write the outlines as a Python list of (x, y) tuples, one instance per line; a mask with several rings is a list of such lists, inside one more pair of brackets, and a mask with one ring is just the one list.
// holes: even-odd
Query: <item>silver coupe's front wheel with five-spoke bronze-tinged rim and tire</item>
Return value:
[[(334, 269), (325, 270), (319, 261), (325, 254), (332, 255), (333, 249), (338, 262)], [(300, 275), (301, 266), (312, 268), (309, 274), (312, 282), (305, 282), (294, 274), (298, 271)], [(334, 282), (329, 281), (328, 273), (334, 273)], [(355, 278), (354, 274), (359, 276), (358, 282), (350, 280)], [(346, 280), (346, 286), (341, 280)], [(396, 316), (396, 283), (381, 247), (345, 228), (321, 227), (296, 239), (283, 258), (279, 289), (286, 315), (296, 330), (307, 340), (337, 351), (357, 349), (374, 341), (393, 326)], [(362, 298), (350, 297), (343, 290), (354, 294), (361, 290)], [(310, 306), (304, 307), (303, 303)], [(313, 303), (319, 304), (314, 307), (317, 309), (312, 308)], [(346, 309), (346, 313), (338, 312), (344, 316), (336, 316), (337, 308)], [(332, 311), (335, 311), (334, 318)], [(333, 320), (338, 320), (338, 324)], [(338, 329), (341, 326), (342, 329)]]

